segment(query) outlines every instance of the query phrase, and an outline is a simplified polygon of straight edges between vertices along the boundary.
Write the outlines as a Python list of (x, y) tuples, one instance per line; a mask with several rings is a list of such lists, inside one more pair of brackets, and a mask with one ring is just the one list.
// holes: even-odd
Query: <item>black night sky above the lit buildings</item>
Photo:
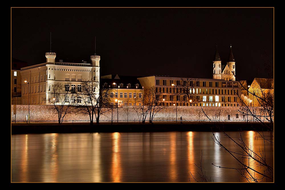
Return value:
[(238, 79), (267, 78), (273, 15), (273, 8), (12, 8), (11, 54), (46, 62), (52, 32), (57, 58), (87, 60), (96, 36), (101, 75), (212, 78), (216, 45), (226, 64), (232, 44)]

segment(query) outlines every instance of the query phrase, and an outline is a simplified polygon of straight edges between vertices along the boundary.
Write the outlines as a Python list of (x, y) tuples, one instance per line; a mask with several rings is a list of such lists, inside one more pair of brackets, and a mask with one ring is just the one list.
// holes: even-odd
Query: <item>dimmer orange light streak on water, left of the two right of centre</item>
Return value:
[(170, 182), (176, 181), (176, 133), (170, 133)]

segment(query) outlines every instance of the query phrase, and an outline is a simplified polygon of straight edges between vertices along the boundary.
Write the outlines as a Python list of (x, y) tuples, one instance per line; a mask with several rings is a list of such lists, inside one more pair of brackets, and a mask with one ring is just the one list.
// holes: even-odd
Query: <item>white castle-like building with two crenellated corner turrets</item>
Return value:
[[(82, 60), (82, 63), (56, 60), (54, 52), (45, 53), (45, 57), (46, 63), (21, 68), (22, 104), (50, 105), (51, 87), (56, 83), (70, 83), (68, 88), (77, 91), (81, 91), (82, 81), (99, 83), (100, 56), (96, 54), (90, 56), (91, 62)], [(94, 86), (94, 93), (99, 95), (99, 85)]]

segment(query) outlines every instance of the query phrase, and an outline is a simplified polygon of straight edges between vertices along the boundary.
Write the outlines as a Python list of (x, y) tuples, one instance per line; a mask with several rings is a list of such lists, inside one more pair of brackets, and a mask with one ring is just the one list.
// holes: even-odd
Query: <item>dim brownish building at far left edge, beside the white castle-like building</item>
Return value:
[(27, 62), (15, 58), (11, 59), (11, 104), (22, 104), (21, 67), (28, 66)]

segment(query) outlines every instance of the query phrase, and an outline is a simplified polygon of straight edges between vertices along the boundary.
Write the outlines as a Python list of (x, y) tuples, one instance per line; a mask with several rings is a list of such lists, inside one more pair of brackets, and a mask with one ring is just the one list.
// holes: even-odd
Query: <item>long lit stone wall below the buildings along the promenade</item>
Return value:
[[(230, 115), (231, 120), (247, 120), (238, 110), (239, 107), (202, 107), (205, 113), (212, 119), (213, 117), (220, 120), (228, 120)], [(64, 120), (89, 120), (89, 115), (79, 113), (78, 110), (71, 107), (72, 113), (67, 114)], [(260, 107), (257, 107), (260, 115)], [(101, 115), (100, 120), (111, 120), (111, 110)], [(236, 118), (238, 114), (238, 118)], [(16, 105), (16, 120), (26, 120), (28, 115), (28, 105)], [(263, 115), (263, 113), (262, 113)], [(121, 107), (118, 109), (119, 120), (139, 120), (137, 113), (132, 106), (129, 108)], [(177, 120), (207, 120), (207, 117), (202, 113), (201, 107), (194, 106), (177, 106)], [(149, 116), (146, 120), (148, 120)], [(53, 105), (30, 105), (30, 120), (57, 120), (58, 115)], [(249, 120), (252, 117), (248, 118)], [(14, 105), (11, 106), (11, 120), (15, 120)], [(113, 109), (113, 120), (117, 120), (117, 109)], [(168, 106), (159, 111), (154, 120), (176, 120), (176, 107)], [(94, 116), (95, 121), (95, 116)]]

